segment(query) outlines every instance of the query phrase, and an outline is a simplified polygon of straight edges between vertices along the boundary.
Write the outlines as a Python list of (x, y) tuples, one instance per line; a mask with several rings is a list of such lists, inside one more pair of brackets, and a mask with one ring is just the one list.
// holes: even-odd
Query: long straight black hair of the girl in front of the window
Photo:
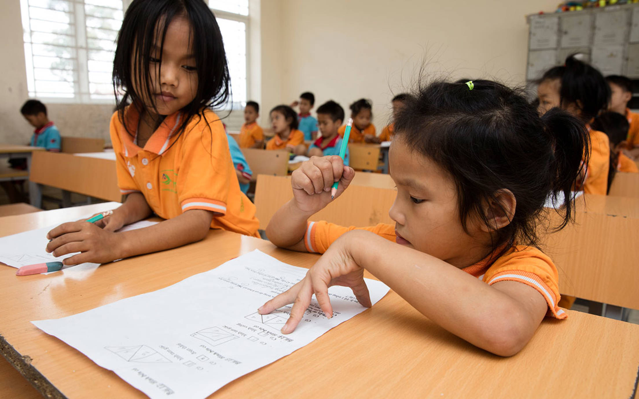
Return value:
[[(184, 132), (192, 117), (202, 117), (205, 108), (224, 105), (229, 98), (230, 77), (222, 33), (204, 1), (134, 0), (127, 8), (118, 34), (112, 75), (116, 109), (130, 134), (137, 126), (127, 126), (124, 109), (132, 103), (142, 104), (142, 98), (153, 97), (151, 50), (155, 45), (161, 54), (169, 24), (180, 16), (186, 17), (191, 27), (191, 52), (196, 60), (198, 84), (194, 100), (182, 109), (185, 117), (178, 135)], [(143, 93), (135, 93), (134, 83)]]

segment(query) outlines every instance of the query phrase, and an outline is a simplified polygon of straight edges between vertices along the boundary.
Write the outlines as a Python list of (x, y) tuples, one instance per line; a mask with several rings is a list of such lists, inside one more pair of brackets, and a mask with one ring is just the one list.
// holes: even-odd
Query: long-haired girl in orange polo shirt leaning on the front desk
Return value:
[[(81, 252), (65, 264), (104, 263), (203, 239), (209, 229), (258, 236), (255, 206), (238, 184), (213, 107), (226, 103), (222, 34), (201, 0), (134, 0), (113, 63), (111, 118), (122, 206), (99, 222), (70, 222), (47, 234), (47, 252)], [(164, 222), (114, 231), (156, 213)]]

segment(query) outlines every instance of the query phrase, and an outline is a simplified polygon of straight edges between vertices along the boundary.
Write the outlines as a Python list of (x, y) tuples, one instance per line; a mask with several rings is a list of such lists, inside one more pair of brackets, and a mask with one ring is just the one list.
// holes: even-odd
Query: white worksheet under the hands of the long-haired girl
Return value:
[[(91, 215), (87, 215), (86, 218), (90, 218)], [(81, 218), (81, 219), (86, 219)], [(141, 220), (140, 222), (132, 223), (119, 229), (118, 232), (127, 230), (142, 229), (142, 227), (149, 227), (155, 225), (158, 222), (149, 222), (148, 220)], [(12, 236), (0, 237), (0, 262), (12, 266), (22, 267), (36, 263), (45, 262), (62, 262), (63, 259), (72, 257), (76, 253), (68, 253), (61, 257), (54, 257), (52, 254), (47, 253), (46, 248), (49, 240), (47, 239), (47, 233), (54, 229), (57, 225), (49, 227), (43, 227), (42, 229), (29, 230)], [(78, 252), (79, 253), (79, 252)], [(66, 267), (98, 267), (97, 263), (81, 263), (76, 266)], [(65, 268), (66, 268), (65, 267)]]

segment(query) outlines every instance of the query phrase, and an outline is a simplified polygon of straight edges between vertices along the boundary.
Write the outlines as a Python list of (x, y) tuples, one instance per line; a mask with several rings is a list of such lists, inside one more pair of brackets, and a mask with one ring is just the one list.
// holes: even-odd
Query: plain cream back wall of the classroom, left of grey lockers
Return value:
[(351, 102), (369, 98), (379, 133), (390, 99), (412, 87), (424, 60), (429, 73), (522, 83), (525, 15), (553, 11), (557, 0), (282, 0), (278, 6), (279, 19), (264, 19), (262, 29), (270, 24), (279, 38), (271, 45), (281, 57), (271, 69), (281, 71), (281, 96), (277, 89), (263, 93), (264, 108), (309, 90), (316, 106), (333, 99), (348, 115)]

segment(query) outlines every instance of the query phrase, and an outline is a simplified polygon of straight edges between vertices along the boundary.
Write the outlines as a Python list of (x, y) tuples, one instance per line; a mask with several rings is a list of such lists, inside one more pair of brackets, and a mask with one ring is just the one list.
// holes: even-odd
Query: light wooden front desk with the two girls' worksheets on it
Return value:
[[(49, 211), (0, 219), (0, 235), (42, 227), (34, 218), (42, 213)], [(0, 267), (0, 303), (10, 309), (0, 312), (0, 350), (51, 398), (144, 398), (115, 373), (30, 321), (65, 317), (161, 289), (254, 248), (297, 266), (311, 266), (318, 259), (254, 237), (211, 230), (199, 243), (92, 271), (70, 268), (20, 278), (12, 267)], [(639, 366), (639, 326), (568, 313), (567, 320), (544, 320), (520, 354), (498, 358), (447, 333), (391, 291), (370, 310), (211, 397), (631, 397)]]

